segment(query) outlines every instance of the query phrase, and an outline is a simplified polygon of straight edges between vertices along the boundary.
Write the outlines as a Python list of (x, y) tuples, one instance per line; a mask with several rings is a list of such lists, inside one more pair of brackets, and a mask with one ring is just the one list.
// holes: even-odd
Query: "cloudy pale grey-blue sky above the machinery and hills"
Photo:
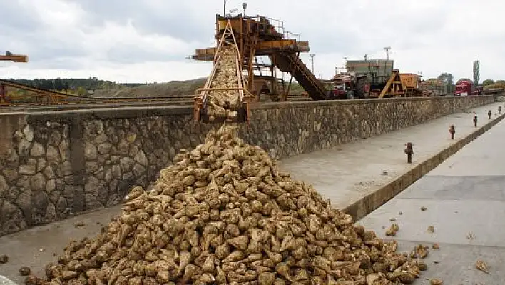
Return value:
[[(227, 1), (227, 10), (243, 1)], [(208, 76), (212, 66), (186, 57), (213, 46), (223, 0), (0, 0), (0, 52), (29, 63), (0, 62), (0, 78), (88, 78), (153, 82)], [(384, 59), (395, 68), (505, 79), (505, 1), (250, 0), (247, 14), (284, 21), (310, 42), (315, 74), (328, 78), (343, 57)], [(302, 56), (310, 66), (308, 54)]]

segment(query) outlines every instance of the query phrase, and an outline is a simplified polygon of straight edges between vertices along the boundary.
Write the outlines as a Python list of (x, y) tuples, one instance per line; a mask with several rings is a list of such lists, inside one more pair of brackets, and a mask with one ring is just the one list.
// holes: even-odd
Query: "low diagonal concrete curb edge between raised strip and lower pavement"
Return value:
[(422, 176), (427, 174), (429, 171), (432, 171), (435, 167), (442, 164), (446, 159), (448, 159), (453, 154), (456, 154), (460, 149), (462, 149), (466, 144), (469, 144), (474, 139), (484, 134), (486, 131), (491, 129), (492, 126), (496, 125), (505, 118), (505, 114), (501, 114), (500, 116), (492, 119), (484, 126), (481, 126), (476, 131), (471, 134), (465, 136), (463, 139), (460, 139), (456, 143), (452, 144), (452, 146), (447, 147), (443, 151), (440, 151), (438, 154), (435, 154), (430, 159), (423, 161), (421, 164), (415, 166), (413, 169), (408, 171), (406, 174), (399, 176), (394, 181), (389, 184), (382, 186), (382, 188), (377, 189), (371, 194), (364, 196), (362, 199), (355, 201), (350, 206), (345, 207), (342, 211), (350, 214), (354, 221), (358, 221), (362, 219), (362, 217), (371, 213), (375, 209), (382, 206), (384, 203), (392, 199), (394, 196), (397, 196), (400, 192), (404, 191), (412, 185), (415, 181), (420, 179)]

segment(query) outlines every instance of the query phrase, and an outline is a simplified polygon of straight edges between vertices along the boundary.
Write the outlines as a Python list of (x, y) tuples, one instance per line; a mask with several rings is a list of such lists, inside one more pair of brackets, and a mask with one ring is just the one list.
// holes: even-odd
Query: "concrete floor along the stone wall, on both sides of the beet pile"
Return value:
[[(332, 199), (334, 206), (345, 208), (471, 134), (476, 130), (472, 122), (474, 112), (482, 126), (489, 121), (487, 111), (494, 113), (498, 106), (481, 106), (389, 134), (284, 159), (280, 167), (290, 171), (295, 179), (314, 184), (323, 196)], [(455, 141), (449, 139), (451, 124), (456, 125)], [(414, 143), (413, 164), (407, 164), (403, 152), (407, 141)], [(19, 268), (29, 266), (41, 276), (43, 266), (56, 261), (53, 255), (61, 254), (70, 239), (98, 233), (101, 225), (107, 224), (119, 209), (121, 206), (101, 209), (0, 237), (0, 255), (9, 256), (9, 263), (0, 265), (0, 275), (21, 284), (24, 279), (19, 276)]]

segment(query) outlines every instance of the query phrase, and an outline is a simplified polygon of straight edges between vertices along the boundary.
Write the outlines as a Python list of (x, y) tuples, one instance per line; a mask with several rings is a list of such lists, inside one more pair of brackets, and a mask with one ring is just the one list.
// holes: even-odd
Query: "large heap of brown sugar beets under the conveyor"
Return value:
[(71, 242), (45, 279), (26, 283), (411, 284), (426, 269), (236, 131), (222, 126), (181, 150), (101, 234)]

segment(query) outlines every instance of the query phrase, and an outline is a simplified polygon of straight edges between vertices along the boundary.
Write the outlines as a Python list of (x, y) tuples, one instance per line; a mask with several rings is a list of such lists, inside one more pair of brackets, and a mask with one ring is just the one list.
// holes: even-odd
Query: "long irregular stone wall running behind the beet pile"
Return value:
[[(493, 96), (263, 104), (241, 136), (277, 159), (489, 104)], [(0, 115), (0, 235), (117, 204), (210, 126), (185, 106)]]

